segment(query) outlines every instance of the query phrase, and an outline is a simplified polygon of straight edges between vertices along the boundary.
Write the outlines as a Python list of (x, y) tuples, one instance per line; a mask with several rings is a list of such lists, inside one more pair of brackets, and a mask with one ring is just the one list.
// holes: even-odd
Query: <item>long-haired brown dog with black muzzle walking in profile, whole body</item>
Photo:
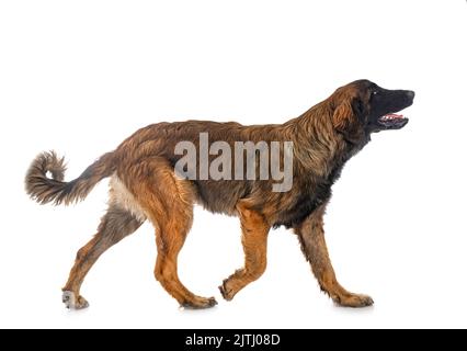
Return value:
[[(26, 173), (25, 189), (41, 204), (67, 205), (83, 200), (98, 182), (111, 178), (109, 210), (96, 235), (77, 253), (62, 288), (64, 303), (68, 308), (88, 307), (80, 287), (91, 267), (105, 250), (149, 219), (156, 229), (156, 279), (181, 306), (216, 305), (214, 297), (193, 294), (178, 275), (178, 256), (197, 203), (213, 213), (240, 219), (244, 267), (219, 286), (227, 301), (261, 276), (266, 268), (267, 234), (271, 228), (285, 226), (297, 235), (321, 290), (337, 304), (372, 305), (369, 296), (351, 293), (338, 282), (324, 241), (323, 214), (331, 186), (344, 163), (371, 140), (372, 133), (402, 128), (408, 118), (396, 113), (410, 106), (413, 98), (410, 90), (386, 90), (368, 80), (357, 80), (284, 124), (243, 126), (208, 121), (152, 124), (137, 131), (69, 182), (64, 181), (62, 158), (54, 151), (38, 155)], [(274, 192), (273, 180), (258, 176), (247, 180), (180, 177), (175, 168), (183, 155), (175, 152), (178, 143), (190, 141), (201, 147), (198, 136), (203, 133), (208, 133), (210, 145), (292, 141), (289, 190)], [(285, 147), (281, 151), (284, 154)], [(201, 170), (200, 162), (195, 163), (196, 172)], [(285, 166), (285, 159), (281, 165)]]

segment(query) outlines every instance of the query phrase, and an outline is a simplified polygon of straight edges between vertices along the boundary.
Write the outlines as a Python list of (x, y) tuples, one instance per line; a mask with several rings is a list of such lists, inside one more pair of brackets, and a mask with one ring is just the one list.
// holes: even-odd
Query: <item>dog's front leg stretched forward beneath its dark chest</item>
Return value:
[(322, 216), (326, 205), (317, 208), (299, 226), (295, 233), (301, 244), (301, 250), (311, 264), (311, 270), (318, 280), (321, 290), (341, 306), (365, 307), (373, 305), (369, 296), (353, 294), (339, 284), (329, 258), (324, 240)]

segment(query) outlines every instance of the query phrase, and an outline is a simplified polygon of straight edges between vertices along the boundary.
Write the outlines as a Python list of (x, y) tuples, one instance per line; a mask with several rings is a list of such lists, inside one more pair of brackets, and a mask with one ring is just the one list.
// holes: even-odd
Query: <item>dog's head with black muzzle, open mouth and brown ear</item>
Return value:
[(387, 90), (369, 80), (356, 80), (331, 95), (334, 128), (351, 141), (374, 132), (400, 129), (409, 120), (397, 112), (413, 103), (411, 90)]

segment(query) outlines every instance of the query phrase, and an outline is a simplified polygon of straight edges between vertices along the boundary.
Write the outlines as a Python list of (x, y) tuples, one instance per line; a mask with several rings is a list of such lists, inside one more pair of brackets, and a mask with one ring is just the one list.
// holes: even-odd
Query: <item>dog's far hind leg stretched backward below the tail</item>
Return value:
[(111, 203), (107, 213), (101, 219), (98, 234), (77, 253), (68, 282), (62, 288), (62, 302), (67, 308), (81, 309), (89, 306), (80, 295), (86, 274), (105, 250), (135, 233), (143, 223), (144, 219)]

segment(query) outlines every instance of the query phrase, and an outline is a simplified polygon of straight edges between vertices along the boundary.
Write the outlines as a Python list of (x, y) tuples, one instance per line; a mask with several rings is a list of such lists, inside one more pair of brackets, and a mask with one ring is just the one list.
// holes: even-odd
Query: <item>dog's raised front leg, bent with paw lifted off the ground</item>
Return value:
[(241, 202), (237, 204), (240, 217), (244, 251), (244, 268), (236, 271), (219, 286), (224, 298), (230, 301), (249, 283), (258, 280), (266, 269), (267, 233), (270, 226), (258, 212), (249, 210)]

